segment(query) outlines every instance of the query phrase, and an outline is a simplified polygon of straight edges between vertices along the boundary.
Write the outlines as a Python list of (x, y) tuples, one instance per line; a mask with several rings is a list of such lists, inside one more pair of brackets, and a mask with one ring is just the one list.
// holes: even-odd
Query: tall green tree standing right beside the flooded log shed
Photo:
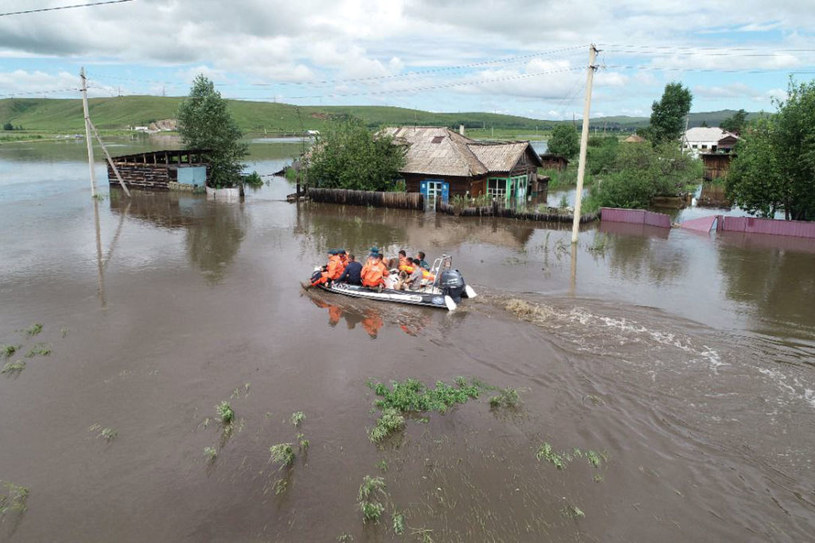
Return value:
[(248, 146), (241, 142), (238, 125), (227, 111), (227, 103), (215, 85), (199, 74), (189, 96), (178, 106), (178, 133), (187, 149), (210, 151), (207, 185), (234, 187), (241, 183), (243, 158)]

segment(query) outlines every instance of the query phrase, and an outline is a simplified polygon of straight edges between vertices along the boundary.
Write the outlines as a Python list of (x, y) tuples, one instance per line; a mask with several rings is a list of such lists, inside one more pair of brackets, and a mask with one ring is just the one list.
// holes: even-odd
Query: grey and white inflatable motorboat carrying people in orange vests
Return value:
[[(319, 285), (319, 288), (352, 296), (354, 298), (367, 298), (381, 302), (394, 302), (400, 304), (423, 305), (425, 307), (444, 308), (455, 311), (462, 298), (475, 298), (476, 293), (470, 285), (464, 282), (461, 272), (452, 267), (453, 259), (443, 255), (433, 261), (430, 267), (432, 281), (416, 290), (396, 290), (393, 288), (372, 289), (360, 285), (331, 282)], [(396, 270), (392, 274), (398, 273)]]

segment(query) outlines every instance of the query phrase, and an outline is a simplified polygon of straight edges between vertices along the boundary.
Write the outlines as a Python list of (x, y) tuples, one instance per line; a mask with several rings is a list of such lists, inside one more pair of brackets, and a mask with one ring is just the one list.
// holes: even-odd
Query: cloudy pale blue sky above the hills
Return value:
[[(0, 98), (184, 96), (436, 112), (774, 111), (815, 79), (815, 0), (0, 0)], [(83, 4), (84, 7), (53, 9)], [(37, 11), (48, 10), (48, 11)], [(19, 11), (34, 11), (19, 13)]]

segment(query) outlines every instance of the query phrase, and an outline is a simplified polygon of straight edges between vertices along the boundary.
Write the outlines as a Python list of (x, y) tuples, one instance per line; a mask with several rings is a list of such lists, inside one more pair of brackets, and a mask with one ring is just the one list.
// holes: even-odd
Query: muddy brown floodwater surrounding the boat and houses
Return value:
[[(293, 205), (274, 177), (242, 204), (127, 200), (97, 171), (94, 202), (83, 142), (0, 146), (0, 343), (51, 349), (0, 375), (0, 480), (30, 490), (0, 540), (813, 540), (811, 243), (592, 225), (573, 254), (557, 226)], [(372, 245), (451, 254), (479, 297), (448, 314), (300, 288), (326, 249)], [(485, 392), (368, 440), (368, 380), (458, 376), (521, 404)], [(279, 470), (269, 447), (298, 433)], [(544, 443), (600, 465), (557, 469)], [(387, 484), (379, 524), (365, 475)]]

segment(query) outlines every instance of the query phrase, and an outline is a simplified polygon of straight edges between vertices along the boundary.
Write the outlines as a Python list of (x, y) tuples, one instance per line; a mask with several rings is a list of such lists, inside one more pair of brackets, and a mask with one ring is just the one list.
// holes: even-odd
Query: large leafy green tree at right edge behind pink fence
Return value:
[(815, 220), (815, 81), (790, 80), (775, 115), (742, 134), (727, 177), (727, 193), (746, 211)]

